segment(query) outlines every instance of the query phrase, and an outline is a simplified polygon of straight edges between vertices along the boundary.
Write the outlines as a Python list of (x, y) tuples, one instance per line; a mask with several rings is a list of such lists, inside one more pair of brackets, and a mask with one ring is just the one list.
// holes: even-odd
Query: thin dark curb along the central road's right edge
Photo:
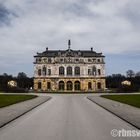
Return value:
[(98, 102), (96, 102), (96, 101), (92, 100), (90, 97), (87, 97), (87, 99), (88, 99), (88, 100), (90, 100), (90, 101), (92, 101), (92, 102), (93, 102), (93, 103), (95, 103), (96, 105), (98, 105), (98, 106), (102, 107), (102, 108), (103, 108), (103, 109), (105, 109), (106, 111), (108, 111), (108, 112), (112, 113), (113, 115), (117, 116), (118, 118), (122, 119), (123, 121), (127, 122), (128, 124), (132, 125), (133, 127), (137, 128), (137, 129), (140, 129), (140, 127), (139, 127), (139, 126), (137, 126), (137, 125), (135, 125), (135, 124), (131, 123), (131, 122), (130, 122), (130, 121), (128, 121), (127, 119), (124, 119), (121, 115), (119, 115), (119, 114), (115, 113), (114, 111), (111, 111), (111, 110), (110, 110), (110, 109), (108, 109), (107, 107), (105, 107), (105, 106), (101, 105), (100, 103), (98, 103)]

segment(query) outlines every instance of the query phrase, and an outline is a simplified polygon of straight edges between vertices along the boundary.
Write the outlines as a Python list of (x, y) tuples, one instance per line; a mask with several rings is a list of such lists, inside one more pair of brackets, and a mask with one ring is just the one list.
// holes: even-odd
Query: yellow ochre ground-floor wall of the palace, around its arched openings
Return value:
[[(98, 87), (97, 87), (97, 83), (101, 83), (101, 89), (102, 91), (105, 90), (105, 78), (34, 78), (34, 90), (35, 91), (42, 91), (42, 92), (47, 92), (47, 82), (51, 83), (51, 90), (50, 91), (54, 91), (57, 92), (59, 91), (59, 81), (64, 81), (65, 83), (65, 90), (66, 89), (66, 83), (67, 81), (71, 81), (73, 83), (73, 90), (72, 91), (68, 91), (68, 92), (73, 92), (74, 91), (74, 82), (75, 81), (79, 81), (80, 82), (80, 87), (81, 87), (81, 92), (88, 92), (88, 82), (92, 83), (92, 90), (93, 92), (98, 91)], [(41, 90), (38, 89), (38, 82), (41, 82), (42, 86), (41, 86)]]

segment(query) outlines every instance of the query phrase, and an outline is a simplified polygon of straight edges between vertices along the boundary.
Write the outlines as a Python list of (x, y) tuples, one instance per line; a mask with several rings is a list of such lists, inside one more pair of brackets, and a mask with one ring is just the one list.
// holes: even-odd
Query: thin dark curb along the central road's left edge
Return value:
[[(39, 97), (37, 97), (37, 98), (39, 98)], [(36, 105), (33, 105), (30, 109), (27, 109), (27, 110), (23, 111), (20, 115), (17, 115), (17, 116), (15, 116), (15, 117), (11, 118), (10, 120), (7, 120), (7, 121), (5, 121), (4, 123), (2, 123), (2, 124), (0, 125), (0, 128), (6, 126), (6, 125), (9, 124), (10, 122), (16, 120), (17, 118), (19, 118), (19, 117), (23, 116), (24, 114), (30, 112), (31, 110), (35, 109), (36, 107), (38, 107), (38, 106), (42, 105), (43, 103), (49, 101), (51, 98), (52, 98), (52, 97), (47, 96), (46, 100), (43, 100), (42, 102), (40, 102), (40, 103), (38, 103), (38, 104), (36, 104)], [(31, 99), (31, 100), (32, 100), (32, 99)], [(28, 100), (28, 101), (30, 101), (30, 100)], [(25, 102), (26, 102), (26, 101), (25, 101)], [(17, 104), (21, 104), (21, 103), (22, 103), (22, 102), (17, 103)]]

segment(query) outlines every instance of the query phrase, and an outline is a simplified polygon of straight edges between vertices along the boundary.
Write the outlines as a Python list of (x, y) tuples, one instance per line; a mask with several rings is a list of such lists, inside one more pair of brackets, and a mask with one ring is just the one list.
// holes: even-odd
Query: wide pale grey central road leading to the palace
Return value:
[(136, 129), (86, 98), (53, 98), (0, 129), (0, 140), (125, 140), (110, 132)]

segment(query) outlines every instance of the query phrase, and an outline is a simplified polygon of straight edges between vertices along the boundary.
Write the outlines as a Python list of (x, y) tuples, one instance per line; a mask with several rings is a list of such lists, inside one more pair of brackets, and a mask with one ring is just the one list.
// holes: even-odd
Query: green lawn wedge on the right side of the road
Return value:
[(138, 94), (129, 94), (129, 95), (101, 95), (101, 97), (115, 100), (121, 103), (132, 105), (140, 108), (140, 95)]

